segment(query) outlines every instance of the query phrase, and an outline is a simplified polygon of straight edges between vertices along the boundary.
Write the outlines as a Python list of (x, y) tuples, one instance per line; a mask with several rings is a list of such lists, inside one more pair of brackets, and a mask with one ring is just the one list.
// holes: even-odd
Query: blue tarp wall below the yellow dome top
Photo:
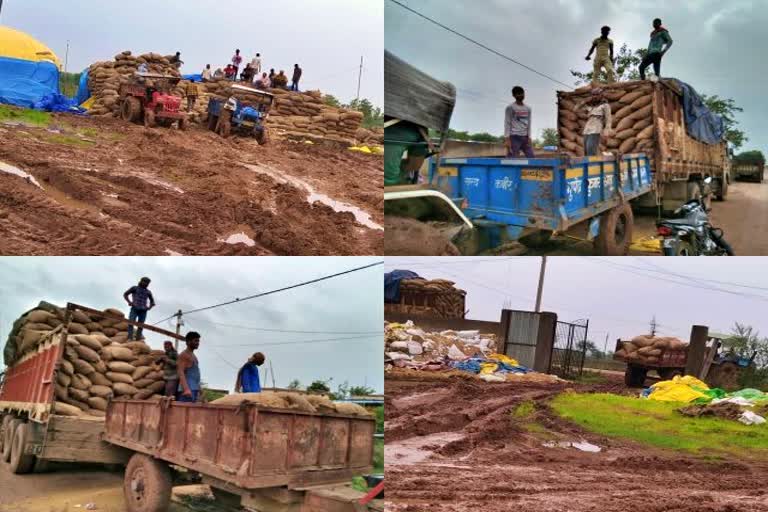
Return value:
[(50, 62), (0, 57), (0, 103), (34, 108), (35, 102), (59, 92), (59, 70)]

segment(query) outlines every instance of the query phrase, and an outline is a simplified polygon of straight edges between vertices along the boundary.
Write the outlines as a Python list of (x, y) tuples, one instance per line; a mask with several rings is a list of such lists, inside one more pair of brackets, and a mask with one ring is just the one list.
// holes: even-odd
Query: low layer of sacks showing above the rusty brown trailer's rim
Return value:
[(346, 414), (368, 417), (371, 414), (365, 407), (346, 402), (332, 402), (325, 395), (306, 395), (290, 391), (262, 391), (261, 393), (234, 393), (211, 402), (217, 405), (243, 405), (252, 403), (275, 409), (293, 409), (322, 414)]

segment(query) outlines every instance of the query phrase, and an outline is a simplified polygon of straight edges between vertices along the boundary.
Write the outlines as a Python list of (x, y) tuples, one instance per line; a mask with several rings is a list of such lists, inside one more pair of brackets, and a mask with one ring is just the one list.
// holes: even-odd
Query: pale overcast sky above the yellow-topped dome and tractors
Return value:
[[(382, 0), (4, 0), (0, 22), (25, 31), (69, 71), (111, 60), (123, 50), (180, 51), (183, 73), (223, 67), (239, 48), (262, 55), (262, 67), (289, 73), (299, 64), (302, 89), (355, 98), (363, 56), (361, 97), (383, 105)], [(290, 76), (290, 75), (289, 75)]]

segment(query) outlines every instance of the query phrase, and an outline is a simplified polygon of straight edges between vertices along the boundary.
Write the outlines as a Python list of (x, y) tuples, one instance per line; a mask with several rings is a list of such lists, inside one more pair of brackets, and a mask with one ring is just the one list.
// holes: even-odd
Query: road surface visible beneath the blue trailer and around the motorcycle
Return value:
[[(725, 239), (738, 256), (768, 256), (768, 182), (731, 184), (728, 199), (712, 203), (712, 224), (725, 231)], [(635, 213), (634, 244), (630, 254), (659, 255), (653, 250), (656, 217)], [(557, 237), (543, 250), (528, 250), (527, 255), (591, 256), (590, 242)]]

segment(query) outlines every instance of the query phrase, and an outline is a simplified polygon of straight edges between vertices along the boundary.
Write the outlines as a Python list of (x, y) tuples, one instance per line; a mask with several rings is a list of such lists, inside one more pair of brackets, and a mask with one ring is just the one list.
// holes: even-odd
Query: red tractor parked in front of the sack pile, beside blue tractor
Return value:
[(172, 94), (179, 83), (174, 76), (136, 73), (133, 81), (120, 86), (120, 116), (131, 123), (144, 121), (144, 126), (170, 128), (179, 123), (179, 130), (189, 127), (187, 114), (181, 109), (181, 98)]

